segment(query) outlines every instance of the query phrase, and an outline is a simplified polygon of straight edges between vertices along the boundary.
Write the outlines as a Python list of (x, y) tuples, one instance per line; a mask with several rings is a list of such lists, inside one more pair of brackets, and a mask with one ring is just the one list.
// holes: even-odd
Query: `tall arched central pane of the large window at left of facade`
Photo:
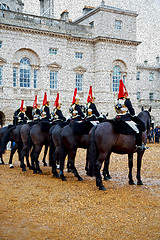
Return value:
[(20, 61), (20, 87), (30, 87), (31, 66), (27, 58)]

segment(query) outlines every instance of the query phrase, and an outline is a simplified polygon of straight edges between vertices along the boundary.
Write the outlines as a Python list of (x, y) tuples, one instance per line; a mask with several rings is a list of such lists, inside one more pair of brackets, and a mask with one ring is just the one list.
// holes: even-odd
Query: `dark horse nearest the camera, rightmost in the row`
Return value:
[[(151, 116), (149, 111), (143, 111), (138, 114), (138, 118), (141, 119), (146, 130), (150, 129)], [(128, 154), (128, 165), (129, 165), (129, 184), (134, 184), (132, 179), (132, 168), (133, 168), (133, 153), (137, 151), (137, 184), (142, 185), (141, 181), (141, 162), (144, 150), (137, 150), (136, 148), (136, 137), (135, 135), (124, 135), (117, 133), (114, 130), (112, 122), (105, 122), (98, 124), (91, 130), (90, 133), (90, 148), (89, 148), (89, 172), (90, 176), (96, 176), (96, 185), (100, 190), (106, 190), (102, 184), (102, 178), (100, 169), (102, 163), (105, 161), (105, 171), (109, 175), (108, 166), (109, 158), (112, 152), (118, 154)], [(143, 142), (147, 142), (147, 131), (143, 132)]]

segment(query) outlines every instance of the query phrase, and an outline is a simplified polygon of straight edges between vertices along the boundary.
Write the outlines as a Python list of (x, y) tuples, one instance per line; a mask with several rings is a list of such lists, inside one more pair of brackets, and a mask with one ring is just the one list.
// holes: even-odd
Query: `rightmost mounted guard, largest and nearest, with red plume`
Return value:
[(145, 131), (144, 123), (135, 116), (135, 110), (128, 98), (128, 92), (122, 79), (119, 83), (118, 102), (115, 105), (115, 111), (117, 113), (116, 119), (125, 121), (135, 131), (137, 150), (147, 149), (142, 143), (142, 132)]

